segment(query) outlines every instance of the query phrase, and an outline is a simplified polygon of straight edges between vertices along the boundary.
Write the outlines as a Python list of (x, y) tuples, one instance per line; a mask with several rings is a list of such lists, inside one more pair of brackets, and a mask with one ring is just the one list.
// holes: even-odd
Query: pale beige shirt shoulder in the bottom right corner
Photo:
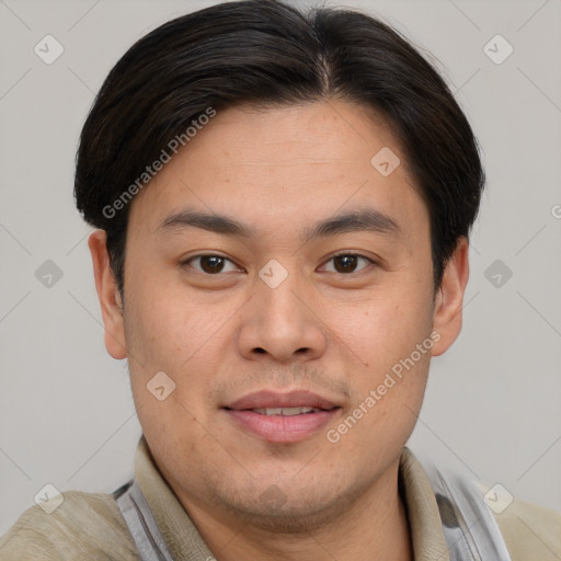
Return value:
[(559, 561), (561, 514), (542, 506), (514, 501), (495, 514), (512, 561)]

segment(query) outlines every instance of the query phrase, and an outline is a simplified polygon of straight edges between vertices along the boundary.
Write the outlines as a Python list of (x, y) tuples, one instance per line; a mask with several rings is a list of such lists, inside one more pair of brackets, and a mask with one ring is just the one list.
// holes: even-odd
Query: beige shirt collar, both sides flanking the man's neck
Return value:
[[(135, 456), (135, 474), (174, 559), (214, 559), (150, 454), (145, 436)], [(399, 479), (408, 512), (415, 561), (449, 561), (440, 515), (428, 478), (419, 460), (404, 447)]]

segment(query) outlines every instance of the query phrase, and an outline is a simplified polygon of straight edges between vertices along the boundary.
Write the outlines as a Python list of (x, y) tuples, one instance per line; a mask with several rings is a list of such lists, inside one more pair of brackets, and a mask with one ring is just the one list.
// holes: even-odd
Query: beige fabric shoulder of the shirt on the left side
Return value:
[(35, 505), (18, 518), (0, 538), (2, 561), (140, 560), (113, 495), (67, 491), (61, 496), (50, 514)]

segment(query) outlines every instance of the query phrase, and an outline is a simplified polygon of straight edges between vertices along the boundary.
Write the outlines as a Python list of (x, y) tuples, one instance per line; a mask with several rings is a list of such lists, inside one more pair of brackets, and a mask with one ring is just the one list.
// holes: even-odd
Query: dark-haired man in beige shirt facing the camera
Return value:
[(405, 447), (483, 183), (442, 78), (371, 18), (250, 0), (140, 39), (76, 173), (136, 478), (30, 508), (1, 559), (559, 559), (559, 515), (495, 517)]

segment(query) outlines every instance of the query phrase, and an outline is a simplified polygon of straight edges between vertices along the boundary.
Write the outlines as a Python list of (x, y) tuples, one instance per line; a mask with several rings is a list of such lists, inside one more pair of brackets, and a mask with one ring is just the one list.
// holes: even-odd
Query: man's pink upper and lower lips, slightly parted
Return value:
[[(299, 415), (264, 415), (251, 411), (263, 408), (308, 407), (322, 411)], [(222, 410), (236, 426), (270, 443), (295, 443), (309, 438), (324, 427), (341, 410), (335, 402), (307, 390), (279, 393), (270, 390), (244, 396)]]

